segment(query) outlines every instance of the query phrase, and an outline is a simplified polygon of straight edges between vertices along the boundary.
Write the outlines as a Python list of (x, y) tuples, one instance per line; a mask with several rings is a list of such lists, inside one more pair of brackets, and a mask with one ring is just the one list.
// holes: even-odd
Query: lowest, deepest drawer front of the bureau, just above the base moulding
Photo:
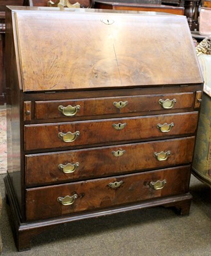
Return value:
[(26, 218), (38, 220), (187, 193), (190, 166), (26, 189)]

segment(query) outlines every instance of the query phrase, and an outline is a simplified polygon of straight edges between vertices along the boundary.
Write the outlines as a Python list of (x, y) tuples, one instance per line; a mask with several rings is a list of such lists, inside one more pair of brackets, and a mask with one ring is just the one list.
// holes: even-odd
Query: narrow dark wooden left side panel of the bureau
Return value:
[(6, 12), (6, 108), (7, 108), (7, 143), (8, 143), (8, 175), (12, 184), (13, 197), (19, 203), (23, 213), (21, 174), (21, 131), (22, 91), (19, 88), (20, 74), (18, 56), (15, 51), (12, 12)]

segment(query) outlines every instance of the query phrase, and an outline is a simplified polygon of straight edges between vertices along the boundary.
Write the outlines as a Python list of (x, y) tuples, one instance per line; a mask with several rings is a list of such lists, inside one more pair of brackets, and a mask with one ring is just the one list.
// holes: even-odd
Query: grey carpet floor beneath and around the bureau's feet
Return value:
[(82, 220), (56, 227), (32, 241), (30, 251), (17, 252), (8, 222), (10, 210), (4, 198), (2, 255), (27, 256), (210, 256), (211, 189), (191, 177), (193, 200), (189, 216), (178, 217), (173, 209), (153, 207)]

